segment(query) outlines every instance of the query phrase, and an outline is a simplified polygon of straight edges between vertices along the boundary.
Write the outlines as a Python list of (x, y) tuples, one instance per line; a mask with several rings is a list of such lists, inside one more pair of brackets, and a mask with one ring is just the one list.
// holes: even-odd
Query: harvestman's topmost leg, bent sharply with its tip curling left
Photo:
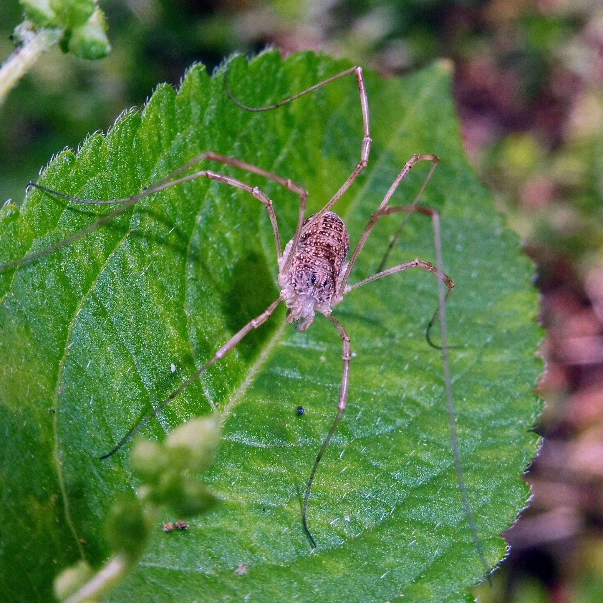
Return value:
[[(347, 74), (351, 74), (351, 73), (356, 74), (356, 81), (358, 82), (358, 90), (360, 93), (360, 106), (362, 109), (362, 128), (364, 130), (364, 138), (362, 139), (362, 145), (361, 145), (361, 150), (360, 150), (360, 161), (358, 162), (356, 167), (353, 169), (352, 174), (350, 174), (350, 176), (347, 178), (346, 182), (344, 182), (344, 184), (341, 186), (341, 188), (339, 188), (339, 190), (335, 193), (335, 195), (333, 195), (333, 197), (330, 199), (330, 201), (323, 207), (323, 209), (321, 209), (319, 212), (315, 213), (315, 215), (312, 217), (312, 219), (310, 219), (308, 221), (308, 223), (305, 226), (306, 229), (308, 229), (312, 223), (314, 223), (317, 219), (319, 219), (320, 216), (322, 216), (324, 214), (324, 212), (329, 210), (330, 207), (332, 207), (333, 204), (335, 204), (336, 201), (338, 201), (339, 198), (342, 197), (344, 192), (346, 192), (347, 189), (350, 188), (350, 186), (352, 185), (354, 180), (356, 180), (356, 178), (358, 178), (358, 175), (360, 174), (360, 172), (368, 165), (368, 154), (370, 153), (372, 140), (370, 137), (370, 124), (369, 124), (369, 119), (368, 119), (367, 89), (364, 84), (364, 75), (362, 75), (362, 67), (356, 66), (356, 67), (351, 67), (350, 69), (346, 69), (346, 71), (342, 71), (339, 74), (336, 74), (330, 78), (327, 78), (326, 80), (320, 81), (320, 82), (318, 82), (318, 84), (314, 84), (314, 86), (310, 86), (309, 88), (306, 88), (305, 90), (302, 90), (301, 92), (298, 92), (297, 94), (294, 94), (293, 96), (289, 96), (289, 98), (286, 98), (285, 100), (280, 101), (279, 103), (276, 103), (273, 105), (268, 105), (266, 107), (248, 107), (247, 105), (238, 101), (235, 98), (235, 96), (233, 95), (233, 93), (231, 92), (229, 84), (228, 84), (228, 69), (226, 71), (226, 74), (224, 75), (224, 86), (226, 87), (226, 92), (232, 99), (233, 103), (235, 103), (236, 105), (241, 107), (241, 109), (245, 109), (247, 111), (259, 112), (259, 111), (270, 111), (271, 109), (277, 109), (278, 107), (282, 107), (283, 105), (285, 105), (287, 103), (291, 103), (291, 101), (294, 101), (296, 98), (299, 98), (300, 96), (308, 94), (308, 92), (312, 92), (313, 90), (316, 90), (317, 88), (320, 88), (321, 86), (324, 86), (324, 84), (328, 84), (328, 83), (332, 82), (333, 80), (337, 80), (338, 78), (343, 77), (344, 75), (347, 75)], [(301, 211), (300, 211), (300, 215), (299, 215), (298, 221), (297, 221), (297, 229), (295, 230), (295, 235), (293, 237), (293, 242), (291, 244), (291, 251), (289, 253), (289, 256), (287, 257), (285, 265), (283, 266), (283, 270), (282, 270), (283, 273), (286, 273), (286, 271), (288, 270), (289, 265), (291, 264), (291, 260), (293, 259), (293, 256), (295, 254), (295, 249), (297, 248), (297, 242), (299, 241), (299, 238), (301, 235), (301, 226), (303, 224), (303, 218), (304, 218), (303, 213), (301, 213)]]

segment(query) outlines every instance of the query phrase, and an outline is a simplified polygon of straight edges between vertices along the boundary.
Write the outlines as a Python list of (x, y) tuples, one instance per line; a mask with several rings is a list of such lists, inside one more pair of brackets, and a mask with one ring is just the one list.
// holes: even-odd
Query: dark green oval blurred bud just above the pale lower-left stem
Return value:
[(142, 553), (148, 526), (135, 496), (124, 496), (110, 508), (105, 531), (113, 551), (123, 552), (128, 557), (137, 557)]

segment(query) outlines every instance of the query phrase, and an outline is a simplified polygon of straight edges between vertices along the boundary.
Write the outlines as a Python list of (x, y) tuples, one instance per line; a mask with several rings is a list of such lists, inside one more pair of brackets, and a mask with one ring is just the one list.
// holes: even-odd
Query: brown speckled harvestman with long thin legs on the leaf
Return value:
[[(400, 272), (402, 270), (407, 270), (408, 268), (421, 268), (422, 270), (426, 270), (434, 274), (438, 279), (438, 299), (439, 305), (438, 309), (435, 312), (432, 319), (429, 321), (428, 327), (426, 329), (426, 336), (429, 344), (432, 347), (437, 347), (442, 350), (443, 360), (444, 360), (444, 378), (446, 382), (446, 400), (447, 400), (447, 409), (449, 414), (449, 423), (450, 423), (450, 438), (452, 440), (452, 450), (453, 456), (455, 460), (456, 473), (458, 475), (459, 487), (461, 490), (461, 496), (463, 499), (464, 510), (467, 515), (467, 520), (469, 522), (469, 527), (472, 532), (473, 540), (475, 541), (476, 548), (479, 554), (479, 558), (484, 566), (484, 570), (488, 573), (488, 565), (485, 561), (484, 551), (482, 549), (481, 540), (479, 539), (479, 535), (475, 526), (475, 522), (473, 520), (472, 510), (469, 504), (469, 499), (467, 497), (467, 488), (464, 480), (463, 469), (461, 467), (461, 458), (458, 449), (458, 440), (456, 435), (456, 426), (455, 426), (455, 411), (453, 409), (452, 403), (452, 388), (450, 381), (450, 363), (448, 356), (449, 347), (446, 344), (446, 299), (452, 288), (454, 283), (450, 278), (444, 274), (441, 270), (442, 268), (442, 245), (441, 245), (441, 235), (440, 235), (440, 218), (438, 212), (430, 207), (420, 206), (417, 204), (421, 194), (423, 193), (427, 183), (429, 182), (429, 178), (434, 172), (437, 163), (439, 162), (439, 158), (435, 155), (431, 154), (420, 154), (413, 155), (406, 165), (402, 168), (400, 173), (397, 175), (393, 184), (390, 186), (390, 189), (387, 191), (383, 201), (380, 203), (377, 210), (371, 215), (370, 220), (364, 232), (362, 233), (356, 247), (352, 253), (352, 257), (350, 261), (346, 263), (347, 254), (349, 251), (349, 234), (347, 232), (346, 226), (343, 223), (343, 220), (339, 218), (339, 216), (330, 211), (331, 207), (343, 196), (343, 194), (350, 188), (352, 183), (358, 178), (358, 175), (362, 172), (362, 170), (368, 164), (368, 154), (371, 148), (371, 137), (370, 137), (370, 128), (369, 128), (369, 119), (368, 119), (368, 99), (367, 92), (364, 84), (364, 77), (362, 75), (361, 67), (352, 67), (350, 69), (346, 69), (346, 71), (342, 71), (339, 74), (333, 75), (326, 80), (320, 81), (314, 86), (309, 87), (302, 92), (295, 94), (280, 103), (276, 103), (267, 107), (247, 107), (244, 104), (240, 103), (230, 92), (230, 88), (227, 83), (227, 74), (225, 76), (225, 85), (227, 93), (230, 98), (242, 109), (247, 111), (268, 111), (271, 109), (277, 109), (277, 107), (281, 107), (286, 103), (290, 103), (296, 98), (307, 94), (308, 92), (312, 92), (317, 88), (324, 86), (332, 82), (333, 80), (337, 80), (338, 78), (344, 77), (344, 75), (355, 74), (356, 81), (358, 82), (358, 89), (360, 93), (360, 104), (362, 109), (362, 124), (364, 127), (364, 137), (362, 139), (361, 146), (361, 154), (360, 161), (356, 164), (356, 167), (353, 169), (352, 173), (347, 178), (346, 182), (341, 185), (341, 188), (333, 195), (333, 197), (328, 201), (328, 203), (317, 213), (305, 217), (306, 213), (306, 200), (308, 198), (308, 191), (293, 182), (289, 178), (282, 178), (277, 174), (273, 174), (273, 172), (268, 172), (265, 169), (259, 168), (257, 166), (251, 165), (250, 163), (241, 161), (239, 159), (235, 159), (233, 157), (227, 157), (218, 153), (213, 153), (213, 151), (205, 151), (201, 153), (194, 159), (191, 159), (188, 163), (178, 168), (176, 171), (172, 172), (162, 180), (160, 180), (155, 185), (145, 188), (144, 191), (140, 192), (137, 195), (133, 195), (133, 197), (125, 197), (122, 199), (112, 199), (107, 201), (98, 201), (98, 200), (88, 200), (81, 199), (77, 197), (71, 197), (69, 195), (64, 195), (62, 193), (52, 191), (51, 189), (46, 188), (45, 186), (38, 185), (36, 183), (30, 183), (29, 186), (34, 186), (42, 191), (45, 191), (48, 194), (55, 195), (56, 197), (61, 197), (67, 199), (69, 201), (77, 201), (78, 203), (89, 203), (89, 204), (122, 204), (121, 207), (114, 210), (113, 212), (107, 214), (103, 218), (99, 219), (96, 223), (91, 224), (80, 232), (75, 233), (74, 235), (69, 236), (63, 241), (60, 241), (45, 250), (38, 251), (37, 253), (33, 253), (27, 257), (24, 257), (19, 260), (14, 260), (13, 262), (8, 262), (7, 264), (0, 265), (0, 270), (4, 268), (9, 268), (12, 266), (17, 266), (19, 264), (23, 264), (24, 262), (28, 262), (34, 260), (40, 256), (45, 255), (51, 251), (54, 251), (63, 245), (67, 245), (75, 239), (80, 238), (81, 236), (86, 235), (97, 227), (101, 226), (109, 222), (119, 213), (124, 212), (128, 207), (132, 206), (136, 201), (139, 201), (143, 197), (147, 197), (147, 195), (152, 195), (159, 191), (163, 191), (164, 189), (170, 188), (171, 186), (175, 186), (181, 184), (183, 182), (188, 182), (188, 180), (193, 180), (194, 178), (199, 178), (201, 176), (210, 178), (211, 180), (217, 180), (218, 182), (223, 182), (227, 185), (235, 186), (236, 188), (247, 191), (253, 195), (260, 203), (264, 204), (268, 216), (270, 217), (270, 223), (274, 233), (274, 241), (276, 244), (276, 253), (277, 253), (277, 261), (279, 263), (279, 277), (278, 282), (281, 288), (279, 298), (277, 298), (273, 303), (265, 309), (262, 314), (251, 320), (247, 323), (238, 333), (233, 335), (229, 341), (227, 341), (224, 346), (222, 346), (213, 357), (206, 362), (206, 364), (201, 367), (197, 373), (195, 373), (192, 377), (187, 379), (177, 390), (172, 392), (162, 403), (153, 408), (153, 412), (151, 412), (147, 417), (145, 417), (142, 421), (140, 421), (139, 425), (137, 425), (134, 429), (132, 429), (124, 438), (115, 446), (110, 452), (107, 452), (105, 455), (101, 456), (101, 458), (107, 458), (111, 456), (113, 453), (117, 452), (124, 444), (130, 440), (140, 429), (148, 423), (148, 421), (153, 418), (157, 412), (160, 411), (170, 400), (174, 399), (178, 394), (180, 394), (188, 385), (190, 385), (195, 379), (197, 379), (201, 373), (207, 370), (212, 364), (217, 362), (219, 359), (223, 358), (227, 352), (233, 349), (236, 344), (241, 341), (249, 333), (251, 330), (256, 329), (261, 324), (265, 323), (268, 320), (271, 314), (273, 314), (274, 310), (279, 306), (282, 301), (285, 301), (285, 306), (288, 308), (286, 313), (286, 321), (288, 323), (297, 322), (297, 330), (305, 331), (307, 330), (311, 324), (314, 322), (315, 312), (320, 312), (324, 314), (336, 327), (339, 332), (339, 336), (342, 341), (342, 355), (343, 358), (343, 371), (341, 375), (341, 388), (339, 391), (339, 402), (337, 405), (337, 414), (335, 420), (333, 421), (333, 425), (331, 426), (327, 437), (324, 439), (323, 446), (318, 453), (317, 459), (314, 462), (314, 466), (312, 467), (312, 472), (310, 474), (310, 478), (308, 480), (308, 487), (306, 488), (306, 493), (303, 501), (303, 513), (302, 513), (302, 523), (303, 528), (308, 535), (312, 547), (316, 547), (316, 543), (314, 541), (314, 537), (312, 537), (311, 532), (308, 529), (308, 524), (306, 523), (306, 510), (308, 509), (308, 499), (310, 496), (310, 489), (312, 486), (312, 482), (314, 481), (314, 475), (318, 468), (318, 463), (320, 463), (320, 459), (322, 458), (324, 451), (326, 450), (329, 441), (335, 432), (339, 420), (341, 419), (341, 415), (346, 409), (346, 400), (348, 393), (348, 385), (349, 385), (349, 374), (350, 374), (350, 359), (352, 358), (352, 354), (350, 352), (350, 338), (339, 321), (333, 317), (332, 309), (341, 301), (346, 293), (353, 291), (353, 289), (357, 289), (362, 285), (367, 285), (368, 283), (373, 282), (374, 280), (380, 279), (381, 277), (388, 276), (390, 274), (394, 274)], [(192, 174), (188, 174), (182, 177), (177, 177), (182, 174), (186, 170), (192, 168), (203, 160), (211, 160), (218, 163), (223, 163), (226, 165), (231, 165), (236, 168), (244, 169), (248, 172), (253, 172), (254, 174), (259, 174), (265, 178), (269, 178), (279, 185), (284, 186), (289, 191), (292, 191), (299, 195), (300, 204), (299, 204), (299, 212), (298, 212), (298, 220), (297, 220), (297, 228), (295, 229), (295, 234), (291, 241), (289, 241), (285, 250), (282, 250), (282, 245), (280, 242), (280, 234), (279, 234), (279, 226), (277, 224), (276, 213), (274, 213), (273, 202), (268, 198), (268, 196), (262, 192), (257, 186), (250, 186), (238, 180), (237, 178), (230, 177), (226, 174), (221, 174), (219, 172), (214, 172), (209, 169), (202, 169), (200, 171), (196, 171)], [(423, 182), (420, 190), (418, 191), (417, 197), (411, 205), (402, 205), (402, 206), (390, 206), (388, 205), (392, 195), (405, 178), (406, 174), (411, 170), (412, 166), (414, 166), (417, 162), (420, 161), (428, 161), (432, 162), (433, 165)], [(353, 285), (348, 284), (348, 280), (350, 277), (350, 273), (352, 272), (352, 268), (358, 259), (358, 255), (364, 247), (365, 242), (368, 239), (368, 236), (373, 230), (377, 220), (382, 218), (383, 216), (390, 215), (391, 213), (407, 213), (408, 215), (402, 222), (402, 225), (399, 227), (396, 235), (390, 242), (390, 246), (388, 248), (388, 253), (395, 244), (400, 232), (406, 220), (409, 218), (411, 213), (420, 212), (425, 215), (428, 215), (432, 219), (432, 225), (434, 229), (434, 242), (435, 242), (435, 256), (436, 256), (436, 264), (437, 268), (434, 267), (430, 262), (425, 262), (424, 260), (414, 259), (410, 262), (404, 262), (403, 264), (399, 264), (394, 266), (393, 268), (388, 268), (387, 270), (381, 270), (384, 265), (384, 262), (379, 267), (379, 271), (376, 274), (369, 277), (368, 279), (361, 280), (358, 283), (354, 283)], [(386, 256), (387, 257), (387, 256)], [(444, 293), (444, 285), (447, 287), (446, 293)], [(431, 329), (432, 324), (435, 319), (440, 317), (441, 324), (441, 339), (442, 345), (436, 346), (432, 343), (429, 338), (429, 331)]]

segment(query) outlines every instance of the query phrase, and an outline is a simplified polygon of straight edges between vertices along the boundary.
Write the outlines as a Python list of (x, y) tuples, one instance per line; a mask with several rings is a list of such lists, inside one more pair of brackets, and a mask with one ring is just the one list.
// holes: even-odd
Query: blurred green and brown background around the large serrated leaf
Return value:
[[(603, 601), (603, 2), (100, 0), (113, 51), (49, 52), (0, 107), (0, 200), (194, 61), (267, 44), (384, 74), (455, 61), (467, 151), (536, 262), (547, 339), (532, 505), (479, 601)], [(0, 5), (0, 57), (21, 22)], [(144, 67), (143, 67), (144, 66)], [(412, 151), (412, 150), (411, 150)]]

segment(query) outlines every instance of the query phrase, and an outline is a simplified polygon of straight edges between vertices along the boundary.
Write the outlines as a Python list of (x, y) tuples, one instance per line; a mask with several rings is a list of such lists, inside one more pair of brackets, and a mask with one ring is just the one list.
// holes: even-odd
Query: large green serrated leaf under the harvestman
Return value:
[[(249, 64), (236, 58), (230, 82), (241, 101), (262, 106), (348, 66), (266, 52)], [(541, 336), (532, 268), (467, 163), (449, 66), (403, 79), (366, 75), (373, 150), (335, 209), (356, 241), (412, 153), (441, 157), (424, 202), (441, 210), (445, 268), (456, 283), (449, 339), (463, 347), (450, 352), (452, 387), (469, 497), (494, 565), (505, 555), (500, 532), (528, 500), (520, 476), (538, 447), (529, 431), (541, 408), (532, 392)], [(159, 86), (142, 113), (124, 113), (77, 155), (58, 155), (40, 183), (85, 198), (124, 197), (209, 149), (292, 178), (308, 188), (315, 211), (358, 161), (361, 139), (353, 76), (250, 113), (224, 93), (223, 69), (209, 78), (198, 65), (177, 93)], [(261, 186), (283, 241), (291, 238), (294, 194), (234, 168), (212, 169)], [(396, 204), (412, 201), (428, 169), (412, 170)], [(0, 259), (41, 250), (106, 211), (31, 190), (20, 212), (2, 210)], [(374, 272), (400, 219), (377, 224), (353, 280)], [(0, 586), (15, 601), (48, 601), (60, 569), (106, 558), (107, 510), (140, 482), (127, 453), (98, 456), (277, 298), (271, 236), (251, 195), (196, 180), (0, 275)], [(432, 241), (429, 219), (413, 215), (390, 261), (433, 262)], [(158, 525), (109, 600), (466, 601), (482, 567), (453, 466), (441, 355), (423, 335), (436, 289), (431, 274), (408, 271), (351, 292), (336, 308), (356, 356), (348, 408), (310, 499), (314, 554), (301, 504), (336, 412), (341, 341), (320, 316), (296, 332), (279, 308), (143, 429), (160, 439), (192, 417), (223, 412), (224, 439), (204, 474), (223, 500), (187, 532)]]

